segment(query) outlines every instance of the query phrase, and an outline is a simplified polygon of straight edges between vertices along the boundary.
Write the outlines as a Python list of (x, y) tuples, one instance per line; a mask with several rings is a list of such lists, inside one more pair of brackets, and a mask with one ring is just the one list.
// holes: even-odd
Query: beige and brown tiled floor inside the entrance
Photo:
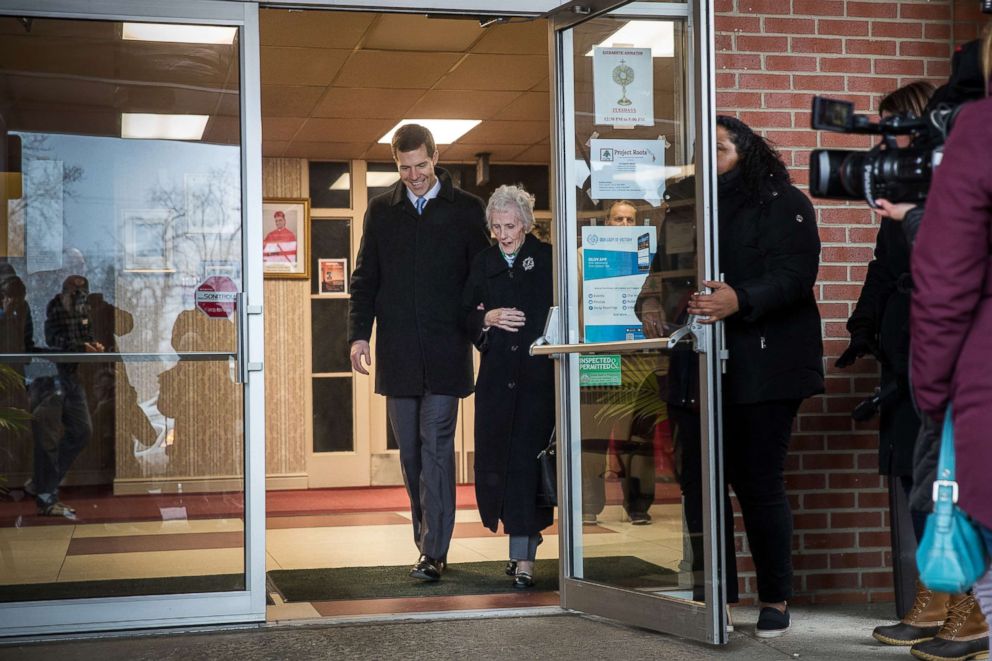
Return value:
[[(410, 515), (404, 510), (340, 511), (294, 507), (281, 495), (280, 507), (270, 508), (266, 532), (267, 569), (398, 566), (416, 560)], [(328, 501), (330, 502), (330, 501)], [(324, 504), (321, 502), (321, 504)], [(340, 503), (335, 503), (340, 505)], [(380, 501), (379, 504), (382, 504)], [(208, 508), (209, 509), (209, 508)], [(195, 507), (191, 511), (197, 512)], [(165, 511), (165, 509), (163, 509)], [(168, 510), (176, 517), (175, 510)], [(597, 525), (582, 527), (587, 556), (636, 556), (673, 570), (683, 557), (680, 506), (671, 502), (651, 510), (653, 525), (633, 526), (618, 505), (607, 506)], [(113, 579), (202, 576), (243, 572), (243, 522), (239, 517), (115, 521), (89, 523), (43, 521), (25, 525), (17, 518), (0, 527), (0, 589), (3, 585)], [(113, 519), (113, 517), (104, 517)], [(149, 517), (151, 518), (151, 517)], [(538, 558), (558, 556), (558, 530), (545, 531)], [(460, 509), (448, 553), (452, 564), (505, 560), (507, 539), (487, 530), (474, 507)], [(360, 615), (384, 612), (521, 608), (558, 603), (557, 593), (374, 599), (313, 604), (277, 603), (270, 620)]]

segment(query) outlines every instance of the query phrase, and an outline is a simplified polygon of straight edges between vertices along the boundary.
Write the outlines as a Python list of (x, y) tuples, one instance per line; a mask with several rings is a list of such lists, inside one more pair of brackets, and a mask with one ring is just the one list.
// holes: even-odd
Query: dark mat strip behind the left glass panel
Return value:
[(245, 589), (244, 574), (129, 578), (112, 581), (65, 581), (0, 585), (0, 602), (91, 599), (95, 597), (140, 597), (196, 592), (237, 592)]

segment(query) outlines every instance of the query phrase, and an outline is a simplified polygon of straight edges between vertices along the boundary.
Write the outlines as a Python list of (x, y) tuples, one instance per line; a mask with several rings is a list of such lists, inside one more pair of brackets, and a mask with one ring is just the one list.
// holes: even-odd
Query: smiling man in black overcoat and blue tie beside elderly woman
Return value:
[[(410, 576), (441, 578), (455, 525), (458, 400), (472, 392), (472, 345), (461, 298), (472, 258), (489, 245), (482, 200), (437, 165), (434, 137), (393, 135), (400, 181), (369, 202), (351, 276), (351, 365), (368, 374), (376, 322), (375, 391), (386, 396), (400, 447), (420, 558)], [(514, 384), (507, 384), (512, 388)]]

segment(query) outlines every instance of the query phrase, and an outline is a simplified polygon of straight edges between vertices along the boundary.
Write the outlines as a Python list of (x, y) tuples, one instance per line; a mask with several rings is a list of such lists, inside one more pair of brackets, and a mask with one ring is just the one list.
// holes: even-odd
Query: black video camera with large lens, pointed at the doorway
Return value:
[[(944, 141), (962, 105), (940, 104), (920, 118), (892, 115), (873, 122), (867, 115), (855, 114), (853, 103), (814, 97), (810, 120), (814, 129), (881, 135), (882, 140), (868, 151), (814, 149), (809, 161), (810, 194), (835, 200), (864, 199), (872, 207), (878, 206), (878, 198), (925, 200)], [(910, 136), (908, 147), (896, 144), (899, 135)]]

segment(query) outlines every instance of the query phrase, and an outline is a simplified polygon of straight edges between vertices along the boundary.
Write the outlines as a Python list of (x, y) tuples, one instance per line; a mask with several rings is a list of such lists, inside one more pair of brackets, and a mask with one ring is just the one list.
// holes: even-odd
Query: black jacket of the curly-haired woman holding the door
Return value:
[(719, 179), (719, 223), (720, 270), (740, 304), (726, 320), (726, 403), (822, 393), (820, 237), (809, 199), (786, 186), (754, 202), (731, 170)]

